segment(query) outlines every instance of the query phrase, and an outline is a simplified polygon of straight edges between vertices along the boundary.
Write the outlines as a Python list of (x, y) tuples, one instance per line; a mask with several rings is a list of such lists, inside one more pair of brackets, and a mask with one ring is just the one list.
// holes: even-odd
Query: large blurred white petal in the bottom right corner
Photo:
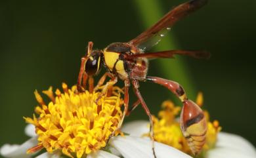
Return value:
[(255, 147), (236, 134), (229, 134), (226, 132), (220, 132), (218, 134), (218, 140), (215, 149), (211, 149), (207, 152), (207, 158), (213, 157), (256, 157)]

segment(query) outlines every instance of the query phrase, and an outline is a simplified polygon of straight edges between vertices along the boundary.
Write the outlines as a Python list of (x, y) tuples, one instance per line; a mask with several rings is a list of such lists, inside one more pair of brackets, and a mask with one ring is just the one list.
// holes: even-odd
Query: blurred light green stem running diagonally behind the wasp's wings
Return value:
[[(135, 7), (137, 7), (138, 15), (140, 16), (141, 24), (146, 29), (152, 26), (154, 23), (163, 16), (160, 1), (156, 0), (134, 0)], [(171, 6), (169, 7), (171, 9)], [(174, 39), (174, 35), (168, 33), (161, 46), (157, 46), (158, 50), (177, 49), (179, 45)], [(160, 59), (159, 66), (165, 78), (179, 82), (186, 90), (189, 98), (196, 98), (196, 89), (190, 79), (190, 72), (182, 58), (176, 57), (175, 60)]]

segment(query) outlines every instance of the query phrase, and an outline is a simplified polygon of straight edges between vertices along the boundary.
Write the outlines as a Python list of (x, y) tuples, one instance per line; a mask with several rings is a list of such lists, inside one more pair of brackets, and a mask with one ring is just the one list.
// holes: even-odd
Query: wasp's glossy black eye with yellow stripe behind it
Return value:
[(88, 57), (87, 62), (85, 64), (85, 72), (87, 73), (87, 75), (95, 75), (100, 70), (101, 53), (102, 52), (100, 50), (93, 50), (93, 52), (91, 52), (91, 55)]

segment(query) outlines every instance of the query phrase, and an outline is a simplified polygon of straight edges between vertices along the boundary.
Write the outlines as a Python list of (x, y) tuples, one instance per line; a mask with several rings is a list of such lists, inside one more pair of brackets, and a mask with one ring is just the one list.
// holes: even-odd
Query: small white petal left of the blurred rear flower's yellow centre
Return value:
[(142, 136), (149, 132), (149, 122), (140, 120), (140, 121), (131, 121), (125, 123), (121, 128), (121, 131), (131, 134), (131, 136)]

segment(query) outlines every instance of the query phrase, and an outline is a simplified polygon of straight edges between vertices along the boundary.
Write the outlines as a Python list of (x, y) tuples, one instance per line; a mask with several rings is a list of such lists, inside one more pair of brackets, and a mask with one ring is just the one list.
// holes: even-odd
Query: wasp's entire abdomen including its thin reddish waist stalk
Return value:
[(206, 120), (202, 109), (196, 103), (188, 100), (184, 89), (179, 83), (160, 77), (146, 77), (147, 81), (158, 83), (171, 90), (181, 100), (183, 107), (181, 111), (181, 130), (188, 141), (188, 146), (197, 155), (205, 144), (207, 132)]

